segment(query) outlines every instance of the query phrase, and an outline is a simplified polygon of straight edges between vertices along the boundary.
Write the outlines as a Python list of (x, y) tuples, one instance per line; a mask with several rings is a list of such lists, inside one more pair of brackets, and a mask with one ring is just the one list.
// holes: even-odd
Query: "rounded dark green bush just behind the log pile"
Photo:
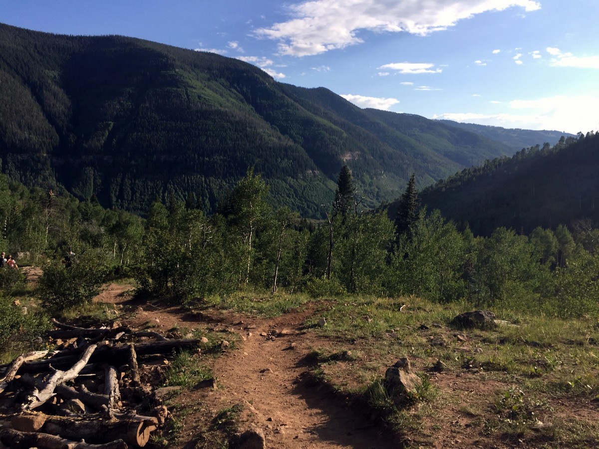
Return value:
[(50, 311), (77, 307), (98, 295), (107, 273), (102, 259), (89, 251), (77, 257), (69, 268), (58, 262), (44, 266), (36, 293), (43, 307)]

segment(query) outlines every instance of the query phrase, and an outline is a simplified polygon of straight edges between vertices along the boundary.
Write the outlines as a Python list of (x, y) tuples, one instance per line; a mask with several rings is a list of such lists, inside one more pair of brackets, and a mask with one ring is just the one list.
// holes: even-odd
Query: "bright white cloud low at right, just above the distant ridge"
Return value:
[(501, 114), (445, 113), (434, 119), (504, 128), (555, 129), (576, 134), (599, 128), (595, 114), (599, 96), (553, 96), (531, 100), (517, 99), (509, 102), (509, 110)]

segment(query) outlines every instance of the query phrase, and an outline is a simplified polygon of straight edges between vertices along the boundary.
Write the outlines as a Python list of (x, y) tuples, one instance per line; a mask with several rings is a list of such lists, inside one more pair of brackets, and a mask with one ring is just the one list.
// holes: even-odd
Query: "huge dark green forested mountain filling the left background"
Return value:
[(319, 216), (344, 164), (372, 207), (397, 198), (412, 172), (423, 187), (512, 153), (423, 117), (278, 83), (240, 60), (119, 36), (0, 25), (0, 98), (2, 172), (138, 212), (171, 193), (214, 210), (253, 166), (276, 205)]

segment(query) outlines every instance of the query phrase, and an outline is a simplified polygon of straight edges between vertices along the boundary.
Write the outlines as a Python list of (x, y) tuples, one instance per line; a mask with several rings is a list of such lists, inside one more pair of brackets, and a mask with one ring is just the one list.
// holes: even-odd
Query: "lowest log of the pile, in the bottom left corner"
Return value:
[(19, 430), (0, 427), (0, 441), (8, 447), (38, 447), (43, 449), (127, 449), (122, 439), (106, 444), (89, 444), (84, 441), (72, 441), (57, 435), (40, 432), (19, 432)]

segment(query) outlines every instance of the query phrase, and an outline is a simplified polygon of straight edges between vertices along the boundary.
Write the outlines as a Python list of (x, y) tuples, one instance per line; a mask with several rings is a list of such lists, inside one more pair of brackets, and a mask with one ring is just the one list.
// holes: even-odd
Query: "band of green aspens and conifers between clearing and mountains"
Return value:
[[(167, 202), (156, 199), (146, 220), (105, 210), (93, 196), (78, 201), (0, 175), (1, 243), (19, 263), (43, 266), (37, 310), (53, 314), (90, 302), (115, 275), (134, 277), (137, 295), (182, 305), (219, 304), (234, 292), (255, 291), (413, 295), (561, 318), (599, 313), (599, 229), (592, 220), (476, 235), (419, 206), (415, 177), (405, 186), (399, 220), (363, 207), (347, 166), (337, 178), (335, 199), (322, 205), (327, 220), (310, 222), (288, 207), (274, 208), (254, 168), (222, 193), (214, 214), (193, 195), (183, 202), (173, 193)], [(25, 318), (11, 305), (22, 277), (5, 268), (0, 281), (7, 311), (0, 338), (11, 341), (27, 323), (42, 328), (43, 314)]]

